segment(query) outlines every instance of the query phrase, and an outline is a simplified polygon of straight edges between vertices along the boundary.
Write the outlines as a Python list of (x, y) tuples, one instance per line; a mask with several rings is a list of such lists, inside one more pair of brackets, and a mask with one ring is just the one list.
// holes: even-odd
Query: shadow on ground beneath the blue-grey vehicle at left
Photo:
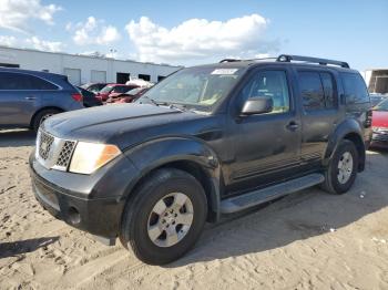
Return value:
[(28, 130), (0, 131), (0, 147), (33, 146), (37, 134)]

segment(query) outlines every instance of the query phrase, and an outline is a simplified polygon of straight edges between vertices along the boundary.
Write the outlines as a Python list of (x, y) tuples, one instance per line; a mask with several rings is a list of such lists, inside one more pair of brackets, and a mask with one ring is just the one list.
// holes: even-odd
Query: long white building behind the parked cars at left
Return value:
[(125, 83), (130, 76), (159, 82), (181, 66), (0, 46), (0, 66), (65, 74), (75, 85)]

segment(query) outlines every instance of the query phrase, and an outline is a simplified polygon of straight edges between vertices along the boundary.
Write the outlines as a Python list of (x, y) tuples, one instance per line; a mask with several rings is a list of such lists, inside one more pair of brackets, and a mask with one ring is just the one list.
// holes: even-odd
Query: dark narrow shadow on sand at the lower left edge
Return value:
[(39, 239), (18, 240), (12, 242), (1, 242), (0, 259), (13, 257), (25, 252), (32, 252), (38, 250), (39, 248), (54, 244), (58, 240), (59, 237), (48, 237)]

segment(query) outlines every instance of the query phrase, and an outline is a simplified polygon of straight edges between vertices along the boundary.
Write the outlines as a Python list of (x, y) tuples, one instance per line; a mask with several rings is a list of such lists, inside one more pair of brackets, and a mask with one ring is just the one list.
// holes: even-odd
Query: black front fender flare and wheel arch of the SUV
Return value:
[(204, 188), (207, 198), (207, 221), (219, 218), (221, 167), (215, 153), (204, 143), (191, 138), (164, 138), (125, 152), (139, 174), (127, 186), (129, 199), (152, 173), (175, 168), (191, 174)]

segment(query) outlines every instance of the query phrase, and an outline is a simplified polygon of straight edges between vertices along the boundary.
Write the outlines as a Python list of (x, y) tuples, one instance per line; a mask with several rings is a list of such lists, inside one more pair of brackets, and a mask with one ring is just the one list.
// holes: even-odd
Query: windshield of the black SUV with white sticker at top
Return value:
[(156, 103), (210, 107), (225, 97), (243, 74), (243, 69), (191, 68), (163, 80), (140, 99)]

